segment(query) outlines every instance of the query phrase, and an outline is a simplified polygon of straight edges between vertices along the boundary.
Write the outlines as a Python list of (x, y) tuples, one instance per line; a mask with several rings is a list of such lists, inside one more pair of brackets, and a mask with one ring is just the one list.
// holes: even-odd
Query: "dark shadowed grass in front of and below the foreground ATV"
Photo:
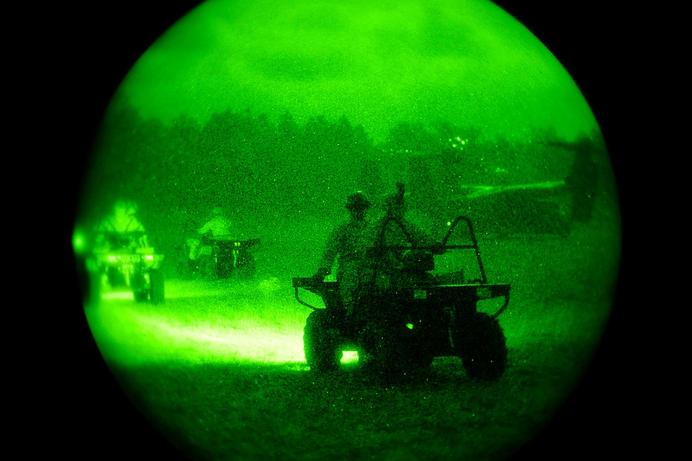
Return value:
[(397, 381), (357, 365), (329, 375), (302, 364), (113, 370), (138, 408), (196, 459), (492, 460), (534, 435), (574, 381), (563, 351), (513, 350), (498, 383), (467, 379), (450, 358)]

